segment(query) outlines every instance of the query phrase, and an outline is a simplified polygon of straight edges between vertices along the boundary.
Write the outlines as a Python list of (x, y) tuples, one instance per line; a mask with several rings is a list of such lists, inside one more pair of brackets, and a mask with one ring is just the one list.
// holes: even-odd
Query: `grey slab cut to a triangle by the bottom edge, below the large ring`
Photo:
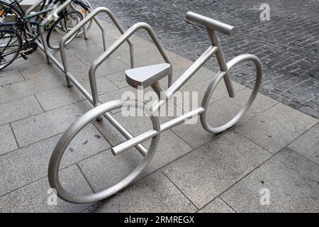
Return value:
[(194, 212), (196, 207), (162, 172), (156, 172), (98, 205), (95, 212)]

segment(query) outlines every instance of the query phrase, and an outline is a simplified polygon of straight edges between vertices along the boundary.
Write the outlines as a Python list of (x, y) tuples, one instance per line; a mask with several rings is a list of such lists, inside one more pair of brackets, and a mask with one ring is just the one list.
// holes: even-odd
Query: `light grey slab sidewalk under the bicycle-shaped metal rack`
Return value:
[[(104, 26), (112, 43), (119, 33), (108, 23)], [(133, 43), (139, 66), (162, 62), (148, 41), (133, 36)], [(69, 67), (88, 89), (89, 62), (101, 52), (96, 26), (89, 40), (74, 40), (68, 46)], [(176, 79), (192, 62), (174, 52), (169, 56)], [(127, 90), (135, 92), (125, 83), (123, 70), (129, 67), (127, 46), (101, 65), (97, 84), (103, 102), (119, 99)], [(150, 165), (137, 182), (115, 196), (82, 205), (58, 199), (57, 206), (49, 206), (47, 164), (52, 150), (67, 127), (92, 106), (77, 89), (67, 87), (40, 51), (28, 61), (17, 60), (0, 75), (1, 212), (319, 211), (318, 119), (262, 94), (242, 121), (225, 133), (207, 133), (199, 121), (162, 133)], [(202, 68), (182, 90), (202, 96), (214, 75)], [(250, 89), (234, 85), (235, 99), (228, 98), (223, 82), (218, 85), (209, 122), (225, 122), (244, 104)], [(117, 111), (113, 116), (134, 135), (150, 129), (148, 119), (125, 118)], [(79, 194), (98, 192), (128, 174), (141, 155), (131, 149), (114, 157), (110, 148), (121, 141), (106, 120), (86, 126), (62, 160), (64, 187)], [(260, 204), (263, 190), (269, 190), (269, 205)]]

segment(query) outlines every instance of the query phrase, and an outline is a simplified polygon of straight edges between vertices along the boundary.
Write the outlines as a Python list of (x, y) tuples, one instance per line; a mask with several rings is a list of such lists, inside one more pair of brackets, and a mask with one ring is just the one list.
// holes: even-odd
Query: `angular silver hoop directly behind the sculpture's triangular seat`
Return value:
[[(173, 64), (172, 61), (169, 59), (169, 56), (165, 52), (164, 48), (162, 47), (161, 43), (159, 42), (159, 39), (157, 38), (157, 35), (155, 34), (154, 30), (148, 23), (140, 22), (140, 23), (135, 23), (132, 27), (128, 29), (123, 35), (121, 35), (118, 40), (116, 40), (108, 49), (103, 52), (94, 62), (91, 63), (91, 66), (89, 68), (89, 79), (90, 79), (90, 84), (91, 84), (91, 91), (92, 91), (92, 96), (94, 99), (94, 104), (97, 104), (98, 100), (98, 92), (96, 89), (96, 79), (95, 79), (95, 72), (96, 69), (101, 65), (103, 61), (106, 60), (113, 52), (115, 52), (124, 42), (125, 40), (128, 40), (133, 33), (138, 31), (139, 29), (145, 29), (147, 33), (150, 35), (152, 38), (153, 42), (155, 43), (157, 49), (159, 50), (160, 54), (164, 58), (165, 62), (169, 63), (171, 65), (171, 72), (168, 75), (169, 77), (169, 86), (172, 85), (173, 82)], [(94, 94), (93, 94), (94, 93)]]

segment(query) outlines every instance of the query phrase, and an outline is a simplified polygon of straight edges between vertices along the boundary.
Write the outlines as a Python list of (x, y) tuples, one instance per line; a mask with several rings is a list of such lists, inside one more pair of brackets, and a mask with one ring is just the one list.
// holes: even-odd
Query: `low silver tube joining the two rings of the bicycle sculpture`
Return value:
[(149, 140), (150, 138), (157, 135), (158, 133), (162, 133), (163, 131), (166, 131), (169, 128), (177, 126), (180, 123), (183, 123), (184, 121), (189, 120), (190, 118), (194, 118), (195, 116), (198, 116), (198, 114), (201, 114), (204, 111), (205, 109), (203, 109), (203, 107), (199, 107), (198, 109), (195, 109), (194, 111), (190, 111), (189, 113), (184, 114), (183, 116), (179, 116), (170, 121), (162, 123), (160, 125), (159, 132), (154, 129), (151, 129), (150, 131), (142, 133), (138, 136), (135, 136), (134, 138), (130, 138), (130, 140), (126, 140), (125, 142), (116, 145), (115, 147), (111, 148), (111, 151), (113, 155), (119, 155), (123, 153), (125, 150), (128, 150), (129, 148), (133, 148), (135, 145), (145, 142), (146, 140)]

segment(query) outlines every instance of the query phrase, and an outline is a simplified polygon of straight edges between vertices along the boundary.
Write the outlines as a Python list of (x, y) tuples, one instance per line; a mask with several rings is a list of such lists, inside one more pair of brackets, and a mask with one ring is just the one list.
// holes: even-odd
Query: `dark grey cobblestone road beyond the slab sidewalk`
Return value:
[[(232, 38), (221, 35), (226, 59), (252, 53), (264, 66), (261, 92), (319, 118), (319, 1), (318, 0), (92, 0), (116, 12), (126, 28), (150, 23), (167, 50), (196, 60), (208, 45), (206, 30), (186, 20), (187, 11), (211, 16), (238, 28)], [(269, 4), (270, 21), (260, 21), (261, 4)], [(146, 37), (141, 33), (142, 37)], [(216, 72), (216, 62), (207, 67)], [(252, 65), (233, 70), (233, 79), (252, 86)]]

